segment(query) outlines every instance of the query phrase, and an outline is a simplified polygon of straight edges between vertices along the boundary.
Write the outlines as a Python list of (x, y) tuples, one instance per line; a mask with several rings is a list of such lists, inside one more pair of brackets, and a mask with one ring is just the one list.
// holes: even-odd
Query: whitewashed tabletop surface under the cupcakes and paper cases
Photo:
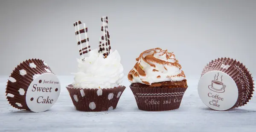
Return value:
[(202, 103), (198, 80), (188, 78), (181, 106), (165, 112), (145, 112), (137, 108), (126, 86), (117, 108), (110, 112), (79, 112), (74, 109), (65, 86), (72, 77), (59, 77), (61, 94), (46, 112), (34, 113), (10, 106), (5, 97), (8, 77), (0, 78), (0, 131), (21, 132), (253, 132), (256, 130), (256, 99), (239, 109), (218, 112)]

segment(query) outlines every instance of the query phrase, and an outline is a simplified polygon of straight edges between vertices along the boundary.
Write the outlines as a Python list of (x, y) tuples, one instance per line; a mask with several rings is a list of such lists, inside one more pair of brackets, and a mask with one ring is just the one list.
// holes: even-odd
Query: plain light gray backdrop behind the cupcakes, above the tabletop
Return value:
[(57, 75), (76, 72), (73, 23), (86, 23), (96, 49), (106, 15), (125, 74), (155, 47), (174, 52), (187, 77), (199, 78), (218, 57), (236, 58), (256, 73), (256, 0), (1, 0), (0, 75), (29, 58), (44, 59)]

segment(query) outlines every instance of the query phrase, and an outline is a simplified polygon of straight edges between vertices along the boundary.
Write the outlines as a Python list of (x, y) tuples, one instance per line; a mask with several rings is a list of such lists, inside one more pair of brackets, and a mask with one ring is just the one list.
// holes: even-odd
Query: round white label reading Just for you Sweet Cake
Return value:
[(44, 112), (58, 100), (61, 84), (56, 75), (44, 73), (36, 77), (26, 92), (26, 104), (32, 112)]

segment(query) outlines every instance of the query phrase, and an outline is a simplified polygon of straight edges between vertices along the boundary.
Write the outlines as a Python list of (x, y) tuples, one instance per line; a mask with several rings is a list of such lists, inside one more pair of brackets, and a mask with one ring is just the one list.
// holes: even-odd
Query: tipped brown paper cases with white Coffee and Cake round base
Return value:
[(253, 77), (242, 63), (218, 58), (205, 66), (198, 94), (209, 108), (224, 111), (247, 104), (253, 95), (253, 85)]

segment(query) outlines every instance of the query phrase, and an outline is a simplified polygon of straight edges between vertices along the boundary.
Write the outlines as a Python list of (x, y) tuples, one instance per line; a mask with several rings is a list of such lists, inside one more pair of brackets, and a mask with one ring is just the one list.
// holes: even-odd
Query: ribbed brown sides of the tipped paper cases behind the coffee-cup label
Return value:
[(253, 77), (247, 68), (237, 60), (230, 58), (218, 58), (205, 66), (201, 76), (210, 71), (221, 71), (233, 78), (238, 87), (239, 97), (233, 108), (244, 106), (253, 95)]

